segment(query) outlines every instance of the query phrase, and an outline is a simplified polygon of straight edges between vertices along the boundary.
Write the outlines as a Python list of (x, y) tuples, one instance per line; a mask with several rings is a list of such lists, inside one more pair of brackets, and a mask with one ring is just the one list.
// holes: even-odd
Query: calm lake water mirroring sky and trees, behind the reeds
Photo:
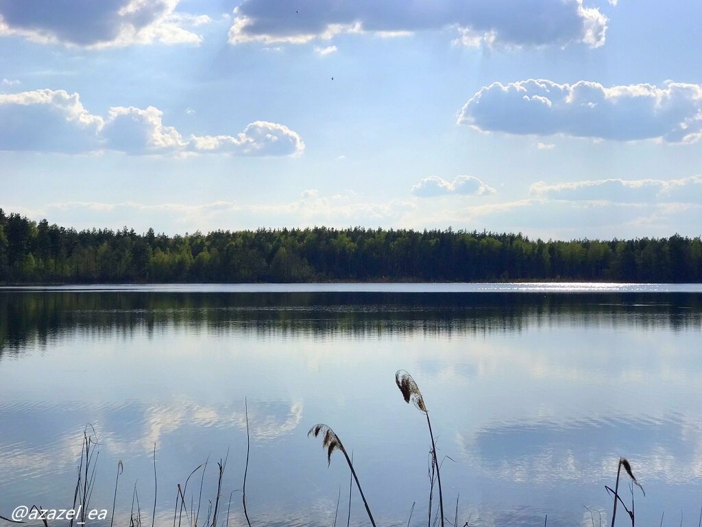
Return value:
[[(171, 525), (176, 485), (209, 456), (201, 519), (241, 488), (248, 399), (252, 523), (331, 526), (348, 450), (378, 525), (426, 525), (423, 391), (453, 519), (590, 526), (628, 457), (637, 525), (696, 526), (702, 505), (702, 288), (698, 285), (207, 285), (0, 289), (0, 514), (69, 507), (82, 431), (100, 437), (92, 504)], [(197, 507), (199, 476), (191, 479)], [(193, 483), (196, 480), (196, 483)], [(625, 500), (630, 493), (625, 487)], [(435, 500), (436, 505), (436, 500)], [(621, 510), (621, 509), (620, 509)], [(622, 524), (628, 518), (625, 512)], [(233, 525), (244, 522), (241, 494)], [(369, 522), (354, 492), (352, 520)]]

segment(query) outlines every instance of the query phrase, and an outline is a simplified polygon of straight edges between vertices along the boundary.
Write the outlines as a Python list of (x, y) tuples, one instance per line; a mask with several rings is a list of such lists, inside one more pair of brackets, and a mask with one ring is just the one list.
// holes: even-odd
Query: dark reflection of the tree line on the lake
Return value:
[[(665, 297), (665, 300), (661, 299)], [(208, 332), (324, 337), (416, 333), (450, 336), (523, 332), (554, 324), (699, 330), (696, 293), (201, 294), (0, 292), (0, 358), (66, 332), (91, 338), (183, 327)]]

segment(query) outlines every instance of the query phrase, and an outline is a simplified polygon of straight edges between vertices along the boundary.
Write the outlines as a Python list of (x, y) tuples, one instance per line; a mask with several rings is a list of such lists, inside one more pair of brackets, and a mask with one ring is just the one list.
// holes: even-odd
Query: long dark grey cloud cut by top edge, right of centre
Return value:
[(245, 0), (234, 10), (231, 44), (303, 44), (337, 34), (380, 37), (455, 28), (456, 44), (545, 46), (604, 44), (607, 18), (583, 0)]

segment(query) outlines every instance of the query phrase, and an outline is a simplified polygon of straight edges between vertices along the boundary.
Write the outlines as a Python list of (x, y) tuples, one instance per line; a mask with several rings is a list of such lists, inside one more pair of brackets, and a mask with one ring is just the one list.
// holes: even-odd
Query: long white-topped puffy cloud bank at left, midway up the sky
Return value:
[(163, 112), (153, 106), (117, 106), (106, 117), (93, 115), (78, 93), (64, 90), (0, 93), (0, 150), (247, 156), (296, 155), (305, 150), (302, 138), (283, 124), (256, 121), (233, 136), (185, 137), (162, 119)]

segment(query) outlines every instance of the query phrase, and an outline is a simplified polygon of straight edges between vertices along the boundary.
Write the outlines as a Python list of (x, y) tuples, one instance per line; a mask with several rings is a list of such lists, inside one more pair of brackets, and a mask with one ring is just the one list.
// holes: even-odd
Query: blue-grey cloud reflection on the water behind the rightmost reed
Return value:
[(669, 484), (702, 476), (702, 428), (677, 413), (663, 418), (599, 417), (496, 424), (466, 437), (461, 454), (491, 477), (559, 485), (611, 476), (618, 453), (631, 453), (637, 477)]

